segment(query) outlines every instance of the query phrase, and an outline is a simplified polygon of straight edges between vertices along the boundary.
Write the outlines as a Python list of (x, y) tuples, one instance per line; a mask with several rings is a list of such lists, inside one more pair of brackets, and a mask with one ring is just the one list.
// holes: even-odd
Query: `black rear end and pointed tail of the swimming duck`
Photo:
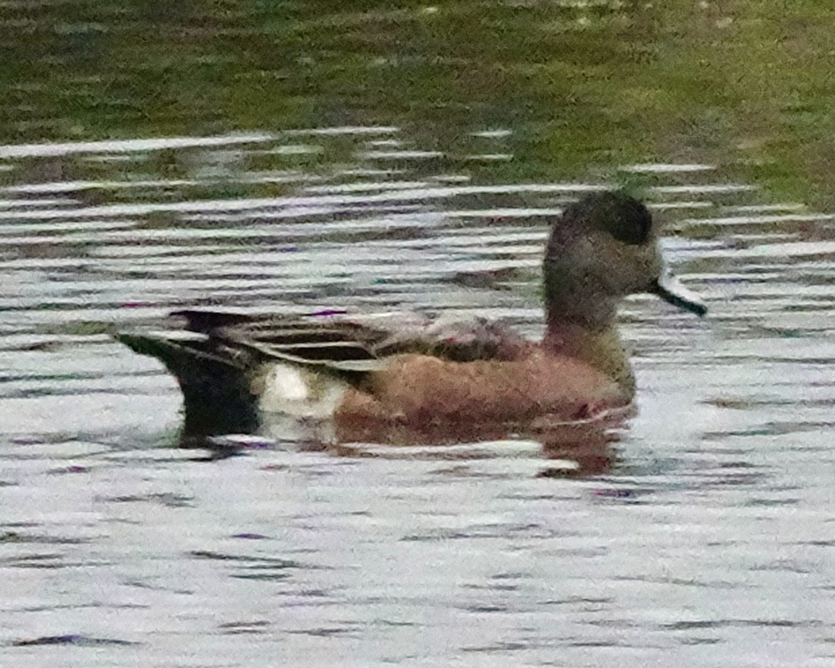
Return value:
[(220, 350), (201, 335), (117, 334), (116, 339), (140, 355), (156, 357), (176, 377), (183, 392), (186, 433), (252, 433), (257, 428), (251, 356)]

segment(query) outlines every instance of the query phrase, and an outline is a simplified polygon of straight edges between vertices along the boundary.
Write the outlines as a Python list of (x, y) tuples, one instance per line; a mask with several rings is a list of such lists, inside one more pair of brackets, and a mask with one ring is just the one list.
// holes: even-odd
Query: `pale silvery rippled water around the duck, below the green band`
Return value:
[(831, 216), (625, 165), (711, 312), (625, 304), (640, 413), (593, 470), (524, 440), (213, 459), (109, 338), (201, 304), (537, 335), (548, 218), (591, 186), (469, 178), (506, 137), (0, 147), (9, 665), (832, 665)]

